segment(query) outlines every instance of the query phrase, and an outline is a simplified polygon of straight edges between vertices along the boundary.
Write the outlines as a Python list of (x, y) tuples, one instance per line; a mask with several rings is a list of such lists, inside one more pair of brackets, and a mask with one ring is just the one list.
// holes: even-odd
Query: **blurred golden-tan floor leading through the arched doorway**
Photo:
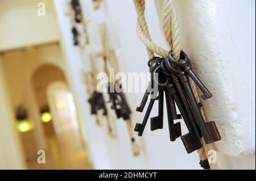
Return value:
[(38, 163), (38, 158), (31, 159), (29, 169), (93, 169), (78, 128), (68, 128), (48, 136), (47, 144), (46, 163)]

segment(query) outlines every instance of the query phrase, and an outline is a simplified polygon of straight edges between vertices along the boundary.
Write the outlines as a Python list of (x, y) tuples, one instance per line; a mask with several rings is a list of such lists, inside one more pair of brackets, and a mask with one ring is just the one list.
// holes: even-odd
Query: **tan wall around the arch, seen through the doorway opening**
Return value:
[(59, 46), (49, 45), (7, 53), (2, 56), (2, 66), (6, 76), (7, 89), (11, 96), (12, 110), (15, 110), (20, 104), (27, 107), (29, 119), (35, 125), (32, 131), (22, 133), (27, 158), (35, 157), (39, 149), (47, 149), (45, 131), (40, 122), (39, 104), (41, 103), (36, 100), (32, 85), (32, 75), (45, 64), (56, 65), (64, 70)]

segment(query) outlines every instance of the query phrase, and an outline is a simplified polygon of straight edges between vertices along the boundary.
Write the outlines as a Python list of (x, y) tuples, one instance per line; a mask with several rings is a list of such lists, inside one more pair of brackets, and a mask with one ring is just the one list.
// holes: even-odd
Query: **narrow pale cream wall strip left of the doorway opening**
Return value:
[(0, 169), (26, 169), (0, 57)]

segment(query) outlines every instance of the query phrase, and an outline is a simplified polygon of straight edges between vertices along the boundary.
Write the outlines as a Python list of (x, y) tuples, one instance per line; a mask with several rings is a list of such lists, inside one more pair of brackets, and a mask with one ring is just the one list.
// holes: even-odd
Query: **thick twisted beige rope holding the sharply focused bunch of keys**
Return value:
[[(156, 53), (159, 56), (166, 57), (168, 52), (163, 48), (159, 47), (158, 45), (154, 44), (150, 37), (150, 33), (148, 31), (146, 19), (144, 17), (145, 11), (145, 0), (134, 0), (134, 6), (138, 14), (137, 18), (137, 33), (139, 39), (141, 39), (142, 43), (147, 47), (147, 51), (149, 57), (152, 57), (152, 54)], [(173, 56), (175, 60), (179, 60), (180, 56), (180, 40), (179, 40), (179, 28), (177, 27), (177, 17), (175, 12), (174, 3), (172, 0), (165, 0), (164, 1), (164, 8), (163, 8), (163, 32), (168, 43), (168, 46), (173, 51)], [(153, 53), (154, 52), (154, 53)], [(197, 88), (195, 82), (191, 81), (191, 87), (197, 99), (197, 102), (200, 101), (200, 97), (197, 92)], [(205, 120), (207, 117), (203, 108), (201, 108), (202, 115)], [(205, 144), (203, 138), (201, 139), (203, 144), (203, 148), (197, 150), (199, 154), (200, 160), (204, 161), (208, 159), (208, 151), (212, 150), (212, 144)], [(209, 163), (210, 169), (218, 169), (217, 163)]]

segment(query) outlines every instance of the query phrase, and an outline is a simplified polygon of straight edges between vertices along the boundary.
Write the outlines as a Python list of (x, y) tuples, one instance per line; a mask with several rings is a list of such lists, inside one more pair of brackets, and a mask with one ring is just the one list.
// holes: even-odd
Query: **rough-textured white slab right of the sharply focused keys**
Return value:
[[(230, 9), (233, 7), (230, 6)], [(232, 34), (236, 27), (230, 26), (223, 1), (181, 0), (176, 1), (176, 9), (181, 47), (191, 58), (196, 73), (213, 94), (213, 98), (203, 101), (203, 104), (208, 121), (216, 121), (222, 136), (222, 140), (216, 142), (217, 149), (231, 156), (254, 153), (255, 100), (251, 99), (247, 91), (250, 87), (246, 84), (245, 77), (249, 76), (241, 68), (241, 62), (253, 62), (255, 58), (253, 61), (242, 59), (246, 54), (236, 47)], [(234, 18), (230, 15), (232, 14), (229, 14), (229, 19)], [(246, 28), (239, 34), (245, 37)], [(250, 41), (243, 47), (248, 44)]]

